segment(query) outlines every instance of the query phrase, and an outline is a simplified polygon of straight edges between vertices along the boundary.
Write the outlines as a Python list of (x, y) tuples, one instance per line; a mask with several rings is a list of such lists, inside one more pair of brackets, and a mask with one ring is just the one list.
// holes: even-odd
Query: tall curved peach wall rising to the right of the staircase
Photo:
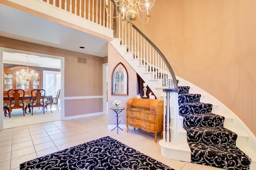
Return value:
[(139, 27), (175, 74), (231, 109), (256, 135), (256, 1), (158, 0)]

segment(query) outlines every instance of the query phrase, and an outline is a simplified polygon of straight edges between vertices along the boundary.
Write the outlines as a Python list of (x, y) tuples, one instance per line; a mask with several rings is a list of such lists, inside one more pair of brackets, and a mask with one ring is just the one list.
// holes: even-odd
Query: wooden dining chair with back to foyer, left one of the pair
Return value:
[[(10, 103), (9, 107), (9, 118), (11, 117), (12, 109), (22, 108), (23, 116), (25, 116), (25, 106), (26, 102), (24, 102), (25, 92), (22, 89), (10, 89), (7, 91), (8, 98)], [(21, 97), (21, 98), (20, 98)]]

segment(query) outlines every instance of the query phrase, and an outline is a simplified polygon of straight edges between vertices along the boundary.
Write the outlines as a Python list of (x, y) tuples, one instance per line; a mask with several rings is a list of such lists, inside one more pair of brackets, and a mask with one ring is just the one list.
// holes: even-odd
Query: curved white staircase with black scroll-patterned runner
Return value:
[[(148, 66), (141, 65), (140, 59), (134, 59), (134, 53), (127, 52), (127, 45), (120, 45), (120, 41), (114, 39), (110, 43), (143, 78), (156, 97), (164, 99), (160, 87), (162, 81), (154, 79), (154, 72), (148, 72)], [(256, 169), (256, 139), (244, 124), (218, 100), (182, 78), (177, 79), (181, 80), (177, 143), (159, 141), (161, 154), (170, 159), (224, 169), (248, 170), (249, 166), (251, 170)], [(190, 94), (190, 91), (195, 93)], [(213, 104), (201, 102), (204, 100)], [(222, 114), (214, 114), (217, 111)]]

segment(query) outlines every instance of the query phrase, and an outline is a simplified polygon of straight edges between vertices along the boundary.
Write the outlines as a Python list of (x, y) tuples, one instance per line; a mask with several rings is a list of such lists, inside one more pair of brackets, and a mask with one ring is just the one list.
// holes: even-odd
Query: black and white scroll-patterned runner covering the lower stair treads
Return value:
[(191, 162), (228, 170), (249, 170), (252, 160), (236, 147), (236, 133), (223, 127), (225, 117), (212, 112), (212, 104), (201, 103), (200, 94), (188, 94), (179, 86), (179, 114), (184, 117)]

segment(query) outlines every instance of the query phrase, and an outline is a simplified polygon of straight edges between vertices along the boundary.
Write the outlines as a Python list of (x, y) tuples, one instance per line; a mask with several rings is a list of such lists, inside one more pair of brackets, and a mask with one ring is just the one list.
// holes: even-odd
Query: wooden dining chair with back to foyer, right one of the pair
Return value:
[(42, 107), (42, 110), (44, 112), (44, 96), (45, 96), (44, 89), (33, 89), (31, 91), (32, 101), (28, 102), (28, 104), (31, 107), (32, 115), (33, 115), (34, 107)]

